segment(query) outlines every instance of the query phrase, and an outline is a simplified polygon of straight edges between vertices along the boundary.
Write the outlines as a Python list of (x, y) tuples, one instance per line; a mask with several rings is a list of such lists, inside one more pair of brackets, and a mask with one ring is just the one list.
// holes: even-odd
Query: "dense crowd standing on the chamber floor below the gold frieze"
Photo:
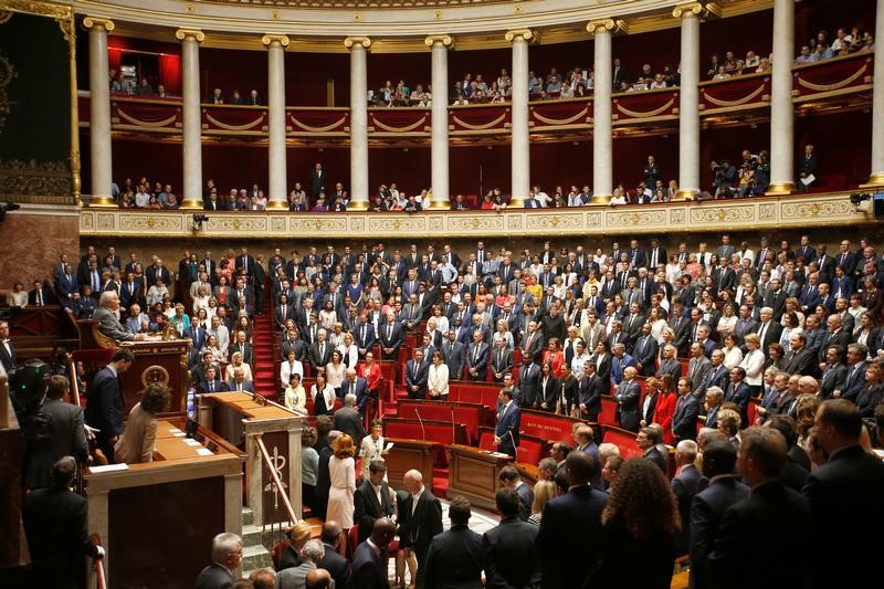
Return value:
[[(28, 304), (41, 304), (54, 296), (73, 313), (70, 302), (75, 293), (87, 291), (76, 287), (74, 281), (80, 277), (74, 278), (66, 257), (62, 256), (53, 267), (54, 288), (36, 283), (28, 294)], [(733, 570), (736, 555), (748, 546), (736, 539), (745, 533), (738, 522), (728, 519), (730, 526), (717, 528), (720, 536), (712, 538), (714, 541), (707, 535), (705, 544), (695, 544), (695, 538), (703, 537), (697, 534), (711, 533), (694, 529), (694, 513), (703, 494), (696, 480), (702, 478), (685, 478), (693, 456), (706, 456), (709, 449), (717, 449), (716, 460), (701, 464), (709, 490), (718, 491), (723, 481), (719, 475), (728, 473), (727, 485), (743, 488), (736, 486), (738, 481), (733, 476), (739, 452), (744, 457), (737, 461), (737, 472), (749, 486), (781, 481), (786, 487), (803, 488), (803, 498), (796, 498), (801, 497), (797, 492), (787, 493), (790, 508), (799, 512), (811, 509), (820, 514), (822, 505), (832, 508), (831, 496), (824, 490), (829, 480), (823, 473), (842, 470), (842, 457), (862, 464), (867, 476), (880, 478), (875, 466), (880, 462), (866, 459), (862, 448), (880, 445), (884, 421), (884, 330), (878, 328), (884, 318), (883, 262), (865, 240), (859, 242), (859, 248), (844, 240), (830, 252), (825, 244), (811, 243), (809, 235), (802, 235), (797, 245), (785, 240), (775, 245), (767, 236), (760, 236), (757, 244), (737, 244), (729, 235), (722, 235), (717, 245), (698, 242), (688, 249), (682, 242), (673, 252), (656, 239), (646, 243), (633, 239), (623, 248), (613, 242), (597, 248), (594, 253), (582, 244), (557, 250), (550, 242), (538, 251), (514, 253), (502, 248), (493, 252), (482, 241), (475, 250), (460, 255), (449, 245), (439, 250), (428, 245), (423, 251), (411, 245), (408, 251), (391, 253), (383, 243), (360, 249), (345, 246), (340, 252), (328, 245), (322, 254), (309, 246), (303, 255), (292, 251), (290, 256), (276, 250), (266, 261), (263, 256), (253, 257), (245, 248), (238, 254), (225, 252), (218, 262), (208, 251), (202, 256), (186, 252), (177, 280), (160, 259), (155, 257), (145, 270), (137, 253), (129, 254), (123, 265), (116, 251), (108, 249), (99, 265), (98, 252), (90, 248), (78, 263), (77, 274), (84, 288), (92, 290), (95, 282), (95, 290), (101, 292), (92, 316), (99, 320), (106, 335), (137, 339), (145, 330), (155, 329), (154, 324), (168, 324), (179, 336), (190, 338), (191, 377), (202, 391), (213, 391), (221, 383), (233, 390), (250, 390), (245, 376), (254, 359), (250, 346), (253, 318), (265, 309), (260, 297), (269, 294), (274, 325), (282, 333), (281, 357), (275, 359), (281, 374), (285, 362), (291, 362), (290, 380), (282, 382), (282, 400), (305, 412), (305, 401), (309, 399), (317, 416), (318, 430), (305, 433), (304, 480), (307, 487), (314, 482), (313, 490), (305, 490), (305, 497), (314, 497), (316, 513), (325, 514), (341, 529), (359, 524), (364, 533), (373, 534), (368, 524), (362, 528), (360, 522), (365, 519), (358, 515), (356, 497), (360, 485), (376, 492), (364, 486), (366, 477), (375, 487), (376, 478), (382, 478), (378, 474), (382, 471), (385, 448), (382, 423), (376, 423), (371, 433), (361, 425), (365, 400), (377, 393), (371, 390), (377, 369), (372, 375), (370, 368), (376, 354), (381, 360), (408, 358), (402, 368), (412, 398), (444, 400), (448, 383), (459, 379), (499, 383), (501, 403), (495, 409), (499, 422), (511, 407), (594, 422), (602, 397), (609, 396), (617, 403), (617, 423), (635, 432), (636, 444), (648, 459), (640, 461), (641, 466), (634, 466), (634, 461), (602, 459), (600, 449), (593, 449), (594, 433), (581, 427), (575, 431), (575, 449), (583, 452), (559, 442), (552, 446), (554, 462), (538, 465), (541, 474), (548, 473), (541, 477), (558, 486), (555, 493), (549, 485), (537, 487), (536, 496), (547, 497), (545, 506), (526, 507), (527, 502), (519, 497), (528, 490), (513, 478), (502, 484), (512, 486), (516, 498), (513, 494), (507, 497), (506, 492), (498, 494), (502, 526), (512, 525), (507, 522), (514, 516), (526, 525), (539, 520), (539, 528), (524, 533), (534, 538), (525, 546), (536, 541), (537, 554), (547, 546), (558, 546), (555, 554), (537, 559), (539, 569), (528, 572), (541, 575), (545, 582), (564, 579), (565, 585), (554, 582), (564, 587), (572, 586), (571, 575), (593, 575), (602, 585), (610, 582), (614, 572), (623, 575), (622, 560), (618, 559), (625, 553), (608, 547), (634, 546), (630, 543), (638, 539), (650, 547), (655, 559), (660, 558), (648, 570), (630, 572), (646, 575), (642, 577), (645, 580), (653, 577), (662, 582), (664, 565), (671, 572), (674, 555), (687, 550), (692, 575), (696, 571), (716, 579), (723, 570)], [(117, 283), (114, 275), (123, 272), (125, 281)], [(144, 277), (136, 282), (136, 275)], [(231, 281), (233, 286), (228, 286)], [(150, 290), (145, 291), (151, 283)], [(173, 293), (167, 284), (176, 284)], [(126, 305), (120, 311), (124, 299)], [(178, 302), (173, 305), (175, 301)], [(155, 311), (141, 317), (140, 308)], [(0, 323), (0, 336), (2, 329), (8, 326)], [(228, 354), (219, 351), (219, 336), (223, 333), (229, 338)], [(235, 336), (230, 336), (232, 333)], [(411, 334), (417, 344), (410, 343)], [(4, 338), (0, 349), (6, 351), (0, 359), (13, 362), (4, 362), (7, 369), (14, 367), (12, 346), (13, 341)], [(234, 358), (236, 354), (240, 358)], [(228, 375), (223, 378), (221, 368), (228, 360), (231, 364), (224, 367)], [(128, 350), (115, 354), (112, 366), (90, 385), (90, 398), (112, 389), (117, 382), (115, 375), (125, 371), (130, 362)], [(307, 366), (315, 379), (309, 397), (299, 382)], [(50, 397), (63, 398), (69, 385), (59, 382), (55, 388)], [(758, 399), (754, 412), (749, 408), (751, 398)], [(344, 407), (335, 411), (338, 399)], [(161, 412), (167, 402), (161, 390), (146, 395), (137, 414), (130, 416), (129, 425), (124, 428), (120, 411), (108, 416), (95, 409), (104, 403), (91, 406), (87, 401), (85, 421), (104, 432), (98, 448), (106, 456), (146, 461), (150, 460), (152, 446), (145, 442), (149, 440), (152, 416)], [(135, 431), (130, 433), (133, 427)], [(515, 428), (517, 432), (517, 424)], [(774, 430), (776, 433), (770, 433)], [(316, 441), (311, 442), (312, 438)], [(506, 437), (497, 438), (503, 449)], [(860, 442), (864, 445), (860, 446)], [(328, 450), (324, 450), (324, 443)], [(677, 474), (669, 472), (669, 450), (661, 444), (676, 449)], [(855, 451), (844, 450), (854, 445)], [(610, 454), (606, 456), (617, 453), (607, 450)], [(571, 455), (576, 457), (568, 457)], [(362, 461), (358, 472), (357, 457)], [(754, 460), (757, 464), (753, 466)], [(649, 471), (644, 462), (656, 471)], [(44, 460), (42, 464), (41, 472), (51, 462)], [(649, 491), (660, 487), (664, 472), (674, 475), (678, 485), (695, 490), (688, 501), (678, 495), (682, 490), (675, 490), (673, 483), (678, 496), (675, 511), (661, 507), (672, 502), (667, 491)], [(360, 477), (362, 482), (357, 484)], [(625, 483), (633, 480), (634, 483)], [(662, 481), (665, 484), (665, 478)], [(399, 499), (430, 497), (430, 490), (419, 483), (412, 474), (406, 481), (409, 496), (390, 496), (388, 507), (401, 507)], [(864, 492), (850, 488), (854, 496)], [(606, 491), (610, 491), (610, 498)], [(652, 519), (653, 525), (644, 516), (639, 518), (643, 524), (630, 520), (635, 515), (625, 507), (631, 499), (619, 493), (636, 491), (654, 499), (653, 513), (660, 517)], [(781, 496), (785, 492), (776, 493)], [(564, 497), (548, 498), (556, 494)], [(744, 495), (732, 496), (736, 501)], [(592, 509), (587, 508), (590, 504), (594, 505)], [(860, 504), (862, 501), (856, 503)], [(740, 505), (735, 503), (734, 509), (739, 511)], [(880, 507), (870, 509), (880, 516)], [(404, 513), (411, 513), (410, 505)], [(414, 513), (429, 517), (428, 511)], [(723, 513), (719, 509), (716, 517)], [(388, 515), (392, 514), (381, 517)], [(562, 553), (560, 543), (552, 541), (566, 533), (559, 527), (562, 522), (575, 517), (591, 519), (580, 527), (581, 534), (603, 530), (592, 535), (606, 538), (590, 550), (590, 558), (599, 559), (594, 574), (592, 567), (579, 574), (569, 571), (565, 562), (570, 544)], [(817, 518), (822, 528), (855, 524), (851, 518)], [(408, 522), (407, 517), (398, 519), (400, 540), (411, 532)], [(431, 525), (420, 525), (424, 524)], [(641, 527), (644, 525), (650, 527)], [(671, 538), (680, 526), (682, 534), (686, 529), (690, 534)], [(429, 539), (441, 532), (441, 526), (438, 532), (432, 529), (429, 538), (418, 535), (424, 545), (411, 546), (418, 562), (412, 577), (418, 586), (422, 582), (421, 571), (434, 570)], [(516, 528), (512, 529), (515, 534)], [(483, 541), (494, 553), (499, 538), (488, 533)], [(681, 548), (673, 548), (672, 543), (678, 541), (683, 543), (676, 545)], [(408, 543), (400, 547), (402, 567), (411, 567), (413, 562), (404, 551)], [(501, 558), (512, 556), (509, 549), (499, 554)], [(315, 564), (315, 559), (307, 560)], [(380, 567), (377, 559), (373, 562)], [(486, 555), (482, 567), (488, 578), (515, 575), (509, 566), (493, 565), (493, 557)], [(375, 574), (378, 570), (381, 569)], [(648, 582), (656, 586), (657, 581)]]

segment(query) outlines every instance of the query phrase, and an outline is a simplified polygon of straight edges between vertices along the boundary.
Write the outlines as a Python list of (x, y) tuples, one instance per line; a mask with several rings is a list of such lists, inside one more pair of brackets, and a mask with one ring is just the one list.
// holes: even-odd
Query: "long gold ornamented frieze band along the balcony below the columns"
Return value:
[(420, 239), (427, 235), (475, 238), (513, 235), (639, 234), (669, 231), (736, 231), (759, 228), (806, 229), (874, 225), (874, 217), (854, 211), (850, 193), (759, 197), (634, 207), (589, 206), (551, 211), (432, 211), (424, 213), (213, 212), (201, 231), (191, 229), (191, 211), (83, 209), (84, 236), (156, 236), (315, 240)]

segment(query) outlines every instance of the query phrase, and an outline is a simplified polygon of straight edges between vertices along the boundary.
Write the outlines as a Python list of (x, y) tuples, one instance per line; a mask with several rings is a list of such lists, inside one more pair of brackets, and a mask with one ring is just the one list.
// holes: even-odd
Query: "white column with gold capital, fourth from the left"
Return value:
[(350, 50), (350, 210), (368, 209), (368, 64), (367, 36), (348, 36)]

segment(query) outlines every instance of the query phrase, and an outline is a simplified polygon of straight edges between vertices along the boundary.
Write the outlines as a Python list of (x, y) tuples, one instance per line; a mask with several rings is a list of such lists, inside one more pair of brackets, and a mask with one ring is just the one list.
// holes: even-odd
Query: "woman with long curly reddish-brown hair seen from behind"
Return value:
[[(666, 476), (653, 462), (633, 457), (623, 463), (601, 523), (601, 564), (591, 579), (593, 588), (670, 587), (678, 509)], [(635, 566), (636, 555), (641, 566)]]

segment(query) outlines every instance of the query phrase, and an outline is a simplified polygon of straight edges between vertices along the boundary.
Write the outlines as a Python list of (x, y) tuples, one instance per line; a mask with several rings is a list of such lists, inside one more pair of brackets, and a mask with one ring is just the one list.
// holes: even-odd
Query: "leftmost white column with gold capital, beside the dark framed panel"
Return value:
[(90, 207), (115, 207), (110, 188), (113, 156), (110, 146), (110, 80), (107, 65), (107, 33), (114, 22), (86, 17), (90, 31), (90, 168), (92, 200)]

